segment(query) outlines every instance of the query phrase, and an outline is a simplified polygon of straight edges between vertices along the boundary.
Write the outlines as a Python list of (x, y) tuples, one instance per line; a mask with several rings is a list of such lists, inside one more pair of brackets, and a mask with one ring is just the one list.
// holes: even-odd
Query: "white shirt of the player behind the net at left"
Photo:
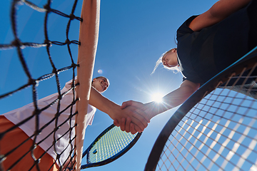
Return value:
[[(70, 88), (71, 88), (71, 81), (65, 84), (65, 87), (61, 90), (61, 93), (64, 93)], [(41, 108), (44, 108), (46, 105), (49, 105), (54, 100), (56, 100), (56, 98), (58, 98), (58, 95), (59, 95), (58, 93), (54, 93), (45, 98), (41, 98), (40, 100), (37, 101), (38, 108), (41, 109)], [(72, 91), (70, 91), (69, 93), (64, 95), (64, 97), (61, 99), (60, 111), (64, 110), (66, 106), (70, 105), (72, 100), (73, 100), (73, 93)], [(39, 128), (41, 128), (43, 125), (45, 125), (46, 123), (48, 123), (50, 120), (54, 118), (54, 115), (56, 114), (56, 110), (57, 110), (56, 108), (57, 105), (58, 105), (58, 102), (54, 103), (54, 105), (51, 105), (49, 108), (47, 108), (46, 110), (42, 111), (39, 114)], [(72, 113), (75, 113), (75, 109), (76, 109), (76, 106), (74, 105)], [(21, 120), (29, 118), (29, 116), (31, 116), (33, 111), (34, 111), (34, 104), (30, 103), (28, 105), (24, 105), (21, 108), (11, 110), (8, 113), (4, 113), (3, 115), (12, 123), (17, 124), (21, 122)], [(92, 105), (88, 105), (88, 111), (86, 115), (86, 127), (87, 125), (92, 124), (95, 113), (96, 113), (96, 108)], [(70, 108), (65, 110), (64, 113), (61, 113), (61, 115), (58, 118), (57, 125), (59, 126), (62, 123), (64, 123), (64, 121), (67, 118), (69, 118), (69, 115), (70, 115)], [(23, 130), (24, 133), (26, 133), (26, 135), (28, 135), (29, 137), (34, 134), (35, 120), (36, 118), (34, 116), (29, 121), (19, 126), (19, 128), (21, 128), (21, 130)], [(51, 145), (53, 145), (54, 133), (51, 133), (51, 132), (55, 128), (55, 122), (56, 122), (55, 120), (51, 122), (46, 128), (42, 130), (42, 132), (39, 135), (36, 136), (36, 143), (43, 140), (43, 142), (41, 142), (39, 146), (45, 151), (48, 150), (49, 147), (51, 147)], [(74, 123), (75, 123), (75, 117), (71, 118), (71, 127), (74, 126)], [(58, 154), (61, 154), (61, 152), (65, 150), (60, 156), (61, 163), (57, 162), (59, 165), (64, 164), (67, 157), (69, 156), (69, 152), (71, 151), (71, 145), (69, 145), (70, 133), (66, 133), (69, 130), (69, 128), (70, 128), (70, 121), (68, 120), (66, 123), (64, 123), (64, 125), (61, 125), (59, 130), (56, 131), (56, 135), (55, 135), (56, 140), (60, 138), (60, 140), (58, 140), (55, 144), (56, 152)], [(48, 138), (46, 138), (50, 133), (51, 135)], [(64, 135), (64, 133), (66, 134)], [(64, 136), (61, 137), (62, 135)], [(74, 138), (74, 136), (75, 136), (75, 130), (72, 129), (71, 140)], [(44, 140), (44, 138), (46, 138), (46, 140)], [(34, 140), (34, 137), (32, 137), (31, 139)], [(74, 140), (72, 141), (72, 145), (74, 148)], [(47, 151), (47, 153), (49, 153), (49, 155), (51, 155), (51, 157), (53, 157), (54, 159), (56, 159), (56, 152), (54, 150), (54, 145), (50, 148), (50, 150)]]

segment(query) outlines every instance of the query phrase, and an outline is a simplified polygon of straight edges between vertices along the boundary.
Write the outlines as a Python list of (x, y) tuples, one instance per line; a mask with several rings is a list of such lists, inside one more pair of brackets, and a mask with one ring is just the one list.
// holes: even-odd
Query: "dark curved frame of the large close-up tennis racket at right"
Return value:
[(191, 108), (193, 108), (196, 103), (198, 103), (201, 99), (203, 99), (208, 93), (211, 93), (212, 90), (215, 90), (222, 83), (226, 83), (232, 74), (237, 76), (241, 73), (244, 68), (245, 71), (253, 68), (253, 66), (257, 63), (257, 46), (253, 48), (253, 50), (246, 53), (245, 56), (238, 59), (235, 63), (228, 66), (228, 68), (224, 69), (216, 76), (211, 78), (209, 81), (203, 84), (201, 88), (196, 90), (193, 95), (191, 95), (176, 112), (171, 116), (166, 125), (161, 130), (161, 133), (158, 135), (156, 142), (153, 145), (151, 153), (146, 162), (145, 171), (148, 170), (156, 170), (156, 166), (158, 164), (158, 160), (161, 157), (161, 153), (163, 151), (166, 142), (176, 128), (178, 123), (183, 119), (183, 117), (188, 113)]

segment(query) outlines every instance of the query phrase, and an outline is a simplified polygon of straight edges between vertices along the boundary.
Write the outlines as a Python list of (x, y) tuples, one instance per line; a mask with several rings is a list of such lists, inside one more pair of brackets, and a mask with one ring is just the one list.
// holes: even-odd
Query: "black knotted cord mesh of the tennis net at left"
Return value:
[[(9, 95), (13, 95), (14, 93), (20, 91), (20, 90), (24, 90), (25, 88), (28, 88), (29, 86), (32, 87), (32, 95), (33, 95), (33, 104), (34, 104), (34, 111), (33, 113), (31, 113), (31, 116), (29, 118), (26, 118), (24, 120), (22, 120), (20, 123), (14, 125), (13, 127), (9, 128), (8, 130), (5, 130), (4, 132), (2, 132), (0, 130), (0, 141), (2, 138), (4, 138), (4, 136), (6, 135), (6, 133), (9, 133), (11, 130), (14, 130), (16, 128), (18, 128), (20, 125), (26, 124), (28, 123), (29, 120), (31, 120), (32, 118), (35, 118), (35, 130), (34, 130), (34, 134), (31, 135), (31, 137), (29, 137), (27, 140), (25, 140), (24, 142), (22, 142), (20, 145), (18, 145), (17, 147), (14, 147), (12, 150), (10, 150), (9, 152), (5, 153), (5, 154), (0, 154), (0, 170), (11, 170), (11, 168), (13, 168), (21, 159), (22, 157), (24, 157), (26, 154), (31, 154), (31, 157), (34, 160), (34, 165), (31, 165), (30, 170), (32, 170), (32, 168), (36, 168), (36, 170), (40, 170), (39, 168), (39, 162), (41, 160), (41, 157), (43, 157), (46, 152), (48, 150), (50, 150), (51, 147), (54, 147), (54, 150), (56, 152), (56, 142), (58, 142), (62, 137), (60, 138), (56, 138), (56, 131), (61, 129), (61, 126), (64, 125), (64, 123), (69, 123), (70, 128), (69, 130), (64, 130), (64, 135), (62, 136), (69, 136), (69, 148), (71, 148), (71, 151), (69, 152), (69, 157), (67, 158), (66, 161), (69, 162), (70, 167), (74, 167), (74, 156), (76, 155), (76, 152), (74, 151), (75, 149), (75, 145), (74, 145), (74, 139), (76, 138), (76, 135), (74, 137), (71, 136), (71, 131), (73, 131), (76, 128), (76, 123), (72, 124), (71, 123), (71, 118), (74, 118), (75, 115), (77, 114), (73, 112), (74, 108), (75, 108), (75, 103), (78, 99), (76, 99), (76, 95), (75, 95), (75, 70), (76, 67), (79, 66), (76, 63), (74, 63), (74, 57), (72, 56), (72, 52), (71, 52), (71, 44), (75, 44), (75, 45), (79, 45), (79, 41), (76, 40), (70, 40), (69, 39), (69, 32), (70, 32), (70, 26), (71, 26), (71, 21), (82, 21), (82, 19), (79, 16), (75, 16), (74, 15), (74, 11), (76, 9), (77, 6), (77, 0), (74, 0), (73, 6), (71, 8), (71, 13), (70, 14), (64, 14), (63, 12), (56, 10), (56, 9), (51, 9), (51, 0), (46, 1), (46, 4), (43, 7), (39, 7), (36, 6), (36, 4), (33, 4), (31, 1), (26, 1), (26, 0), (13, 0), (11, 1), (11, 29), (12, 29), (12, 33), (14, 35), (14, 40), (11, 41), (9, 44), (0, 44), (0, 50), (9, 50), (12, 48), (16, 48), (16, 53), (18, 54), (19, 57), (19, 62), (21, 63), (21, 66), (23, 68), (23, 71), (19, 71), (19, 72), (24, 72), (26, 73), (26, 77), (27, 77), (27, 83), (24, 84), (23, 86), (20, 86), (19, 88), (16, 88), (15, 90), (11, 90), (8, 93), (4, 93), (4, 94), (0, 94), (0, 100), (4, 100), (4, 98), (6, 98)], [(19, 38), (18, 35), (18, 27), (17, 27), (17, 10), (19, 9), (19, 6), (21, 5), (26, 5), (29, 6), (31, 9), (34, 9), (37, 12), (40, 13), (44, 13), (44, 21), (42, 21), (42, 24), (44, 25), (44, 42), (23, 42), (21, 40), (21, 38)], [(48, 31), (48, 22), (49, 22), (49, 14), (55, 14), (58, 15), (60, 17), (64, 17), (67, 19), (68, 23), (66, 25), (66, 41), (65, 42), (60, 42), (60, 41), (54, 41), (54, 38), (49, 37), (49, 31)], [(79, 22), (77, 23), (79, 24)], [(68, 51), (69, 51), (69, 56), (70, 56), (70, 65), (69, 66), (65, 66), (63, 68), (56, 68), (56, 64), (54, 63), (52, 56), (51, 56), (51, 47), (52, 45), (57, 45), (57, 46), (66, 46)], [(49, 58), (49, 62), (51, 63), (51, 67), (52, 67), (52, 72), (51, 73), (45, 73), (43, 76), (40, 76), (39, 78), (33, 78), (31, 76), (31, 72), (29, 71), (29, 67), (26, 63), (26, 59), (24, 57), (24, 48), (46, 48), (46, 52)], [(8, 58), (8, 57), (7, 57)], [(63, 71), (67, 71), (67, 70), (71, 70), (72, 71), (72, 83), (71, 83), (71, 88), (69, 88), (69, 90), (66, 90), (66, 92), (61, 92), (61, 86), (60, 86), (60, 82), (59, 82), (59, 73), (63, 72)], [(37, 100), (37, 87), (40, 86), (40, 82), (44, 81), (48, 78), (51, 77), (55, 77), (55, 81), (56, 81), (56, 88), (57, 88), (57, 93), (58, 93), (58, 98), (52, 100), (52, 102), (49, 105), (44, 106), (44, 108), (39, 108), (38, 105), (38, 100)], [(68, 106), (66, 106), (66, 108), (61, 109), (61, 100), (62, 98), (64, 98), (64, 95), (66, 95), (67, 93), (72, 92), (73, 93), (73, 100), (72, 103)], [(51, 120), (46, 123), (44, 126), (39, 127), (39, 122), (40, 122), (40, 115), (42, 112), (44, 112), (44, 110), (48, 110), (49, 108), (51, 108), (52, 105), (56, 104), (56, 113), (53, 116), (53, 118), (51, 118)], [(59, 120), (59, 116), (64, 113), (65, 110), (69, 110), (70, 115), (68, 118), (66, 118), (66, 120), (64, 120), (63, 122), (61, 122)], [(44, 138), (43, 140), (40, 140), (39, 142), (36, 142), (37, 137), (39, 134), (42, 133), (42, 131), (47, 128), (47, 126), (51, 123), (54, 123), (55, 128), (54, 130), (51, 131), (51, 133), (49, 135), (46, 136), (46, 138), (49, 137), (53, 137), (54, 141), (51, 147), (49, 147), (48, 150), (46, 150), (44, 152), (44, 154), (41, 155), (41, 157), (36, 158), (34, 156), (34, 149), (37, 145), (40, 145), (42, 142), (44, 142), (44, 140), (46, 140), (46, 138)], [(4, 160), (6, 160), (6, 158), (9, 157), (9, 155), (14, 152), (19, 146), (23, 145), (26, 141), (28, 140), (33, 140), (33, 145), (31, 146), (31, 149), (28, 150), (26, 152), (26, 154), (24, 154), (19, 160), (14, 161), (13, 165), (11, 165), (11, 167), (9, 168), (4, 168), (1, 164), (2, 162), (4, 162)], [(3, 147), (1, 147), (3, 148)], [(66, 150), (68, 148), (64, 147), (64, 150)], [(61, 153), (56, 152), (56, 158), (54, 159), (54, 163), (60, 164), (60, 156), (62, 155)], [(54, 164), (53, 164), (54, 165)], [(52, 165), (52, 166), (53, 166)], [(59, 166), (60, 170), (62, 169), (62, 165)], [(51, 168), (49, 168), (50, 170)]]

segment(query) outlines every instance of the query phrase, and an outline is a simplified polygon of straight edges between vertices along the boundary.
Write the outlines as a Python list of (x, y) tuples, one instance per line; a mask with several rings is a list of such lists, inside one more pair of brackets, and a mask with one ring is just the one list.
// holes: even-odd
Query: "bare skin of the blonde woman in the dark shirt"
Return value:
[[(189, 28), (193, 31), (200, 31), (202, 28), (212, 26), (218, 22), (226, 19), (227, 16), (233, 14), (235, 11), (246, 6), (251, 0), (220, 0), (216, 4), (211, 6), (211, 9), (208, 9), (205, 13), (197, 16), (189, 24)], [(164, 66), (173, 67), (178, 65), (176, 50), (170, 51), (163, 56), (162, 62)], [(168, 93), (163, 97), (163, 103), (158, 104), (155, 102), (151, 103), (140, 103), (133, 100), (124, 102), (121, 105), (121, 108), (126, 108), (127, 106), (134, 106), (138, 109), (143, 110), (147, 115), (144, 115), (146, 120), (150, 122), (151, 118), (154, 116), (165, 112), (171, 108), (181, 105), (190, 95), (192, 95), (200, 87), (199, 83), (193, 83), (191, 81), (183, 81), (181, 86), (173, 90), (171, 93)], [(163, 105), (165, 104), (165, 105)], [(121, 130), (126, 130), (126, 132), (136, 133), (136, 130), (131, 124), (131, 120), (126, 120), (126, 123), (118, 123), (114, 120), (116, 126), (120, 126)]]

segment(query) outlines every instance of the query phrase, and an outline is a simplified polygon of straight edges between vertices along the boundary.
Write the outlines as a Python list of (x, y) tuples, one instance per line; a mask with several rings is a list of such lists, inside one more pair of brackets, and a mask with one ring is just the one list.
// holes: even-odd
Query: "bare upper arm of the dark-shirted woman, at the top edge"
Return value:
[(251, 0), (220, 0), (217, 1), (211, 9), (208, 9), (205, 13), (197, 16), (189, 24), (189, 28), (193, 31), (199, 31), (202, 28), (217, 24), (219, 21), (226, 19), (229, 15), (242, 9)]

